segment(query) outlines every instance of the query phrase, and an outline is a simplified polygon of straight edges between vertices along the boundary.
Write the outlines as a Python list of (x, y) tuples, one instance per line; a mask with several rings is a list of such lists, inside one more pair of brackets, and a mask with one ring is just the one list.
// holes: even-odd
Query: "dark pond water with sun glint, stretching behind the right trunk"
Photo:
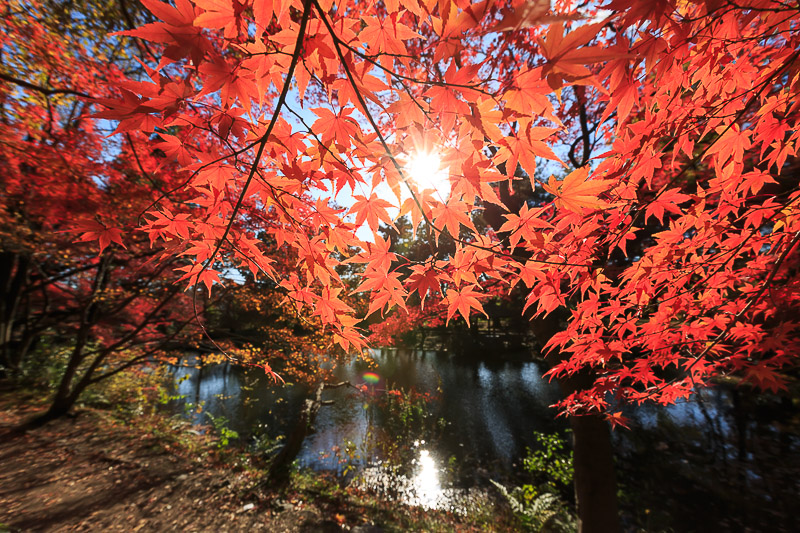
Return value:
[[(365, 392), (342, 387), (323, 393), (332, 403), (320, 409), (300, 466), (359, 474), (361, 483), (391, 487), (404, 503), (464, 510), (490, 479), (521, 480), (526, 448), (537, 445), (535, 431), (567, 427), (549, 407), (559, 399), (558, 387), (542, 378), (534, 361), (490, 363), (432, 351), (372, 355), (372, 364), (335, 369), (337, 380)], [(276, 386), (259, 369), (230, 365), (174, 367), (171, 379), (172, 412), (201, 424), (216, 421), (245, 442), (288, 433), (308, 394), (305, 387)], [(414, 405), (425, 415), (398, 422), (398, 412), (389, 416), (386, 408), (396, 407), (396, 399), (406, 401), (401, 416)], [(730, 523), (736, 530), (761, 520), (763, 505), (778, 508), (778, 518), (770, 515), (773, 526), (791, 521), (791, 502), (800, 492), (796, 407), (717, 387), (691, 402), (632, 410), (632, 430), (614, 432), (622, 504), (627, 497), (630, 513), (646, 516), (628, 521), (678, 531), (727, 530), (719, 524)]]

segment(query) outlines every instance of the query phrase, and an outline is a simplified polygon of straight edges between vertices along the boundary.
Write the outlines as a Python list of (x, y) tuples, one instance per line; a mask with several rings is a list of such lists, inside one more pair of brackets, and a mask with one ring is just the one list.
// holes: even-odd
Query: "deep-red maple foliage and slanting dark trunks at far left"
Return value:
[(4, 371), (16, 377), (57, 369), (41, 421), (67, 412), (88, 386), (199, 333), (171, 283), (180, 260), (156, 262), (145, 235), (127, 235), (170, 169), (142, 149), (141, 134), (106, 141), (80, 99), (103, 90), (95, 78), (120, 79), (130, 51), (81, 42), (111, 24), (107, 11), (59, 7), (8, 4), (2, 23), (10, 60), (0, 76), (0, 346)]

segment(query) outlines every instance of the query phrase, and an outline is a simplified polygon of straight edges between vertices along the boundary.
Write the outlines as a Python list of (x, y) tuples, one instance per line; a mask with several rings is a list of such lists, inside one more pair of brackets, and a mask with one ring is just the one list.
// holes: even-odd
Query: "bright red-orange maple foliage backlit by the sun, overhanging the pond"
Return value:
[[(615, 424), (718, 375), (775, 390), (796, 365), (795, 6), (143, 5), (157, 20), (123, 34), (154, 54), (92, 103), (181, 176), (143, 229), (187, 285), (248, 268), (344, 350), (365, 338), (343, 263), (363, 264), (370, 314), (436, 297), (469, 319), (490, 287), (524, 290), (550, 375), (580, 378), (562, 411)], [(447, 194), (408, 172), (431, 152)], [(545, 161), (566, 177), (540, 181)], [(552, 198), (515, 199), (519, 179)], [(406, 265), (363, 237), (398, 213), (452, 251)], [(83, 236), (125, 242), (104, 227)]]

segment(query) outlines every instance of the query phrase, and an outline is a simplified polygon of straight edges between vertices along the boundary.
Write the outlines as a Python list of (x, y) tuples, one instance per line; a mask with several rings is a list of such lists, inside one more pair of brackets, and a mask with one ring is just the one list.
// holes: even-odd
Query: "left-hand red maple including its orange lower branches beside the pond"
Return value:
[[(315, 325), (298, 329), (286, 319), (296, 316), (289, 306), (263, 290), (252, 294), (251, 284), (184, 293), (176, 273), (180, 278), (191, 265), (137, 231), (158, 204), (172, 218), (151, 220), (152, 231), (183, 234), (200, 207), (182, 190), (177, 165), (184, 158), (174, 135), (132, 131), (117, 141), (108, 138), (108, 123), (90, 116), (89, 97), (110, 96), (107, 84), (124, 83), (123, 72), (141, 70), (137, 61), (148, 53), (97, 39), (132, 26), (141, 13), (127, 9), (92, 2), (4, 7), (2, 50), (11, 59), (0, 69), (0, 370), (16, 379), (45, 365), (54, 370), (50, 408), (37, 423), (66, 413), (103, 379), (187, 350), (222, 351), (268, 372), (278, 364), (291, 375), (310, 372), (303, 357), (323, 355)], [(276, 263), (288, 272), (290, 261)], [(216, 264), (222, 268), (224, 258)], [(216, 318), (221, 309), (241, 316), (250, 308), (267, 313), (258, 334), (232, 331)], [(205, 328), (214, 329), (213, 340)]]

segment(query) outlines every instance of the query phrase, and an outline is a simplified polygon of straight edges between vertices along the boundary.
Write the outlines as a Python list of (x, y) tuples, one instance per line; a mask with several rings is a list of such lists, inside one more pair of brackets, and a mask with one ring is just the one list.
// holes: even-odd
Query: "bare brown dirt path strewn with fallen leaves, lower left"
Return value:
[(102, 411), (9, 436), (31, 414), (0, 411), (0, 531), (342, 531), (312, 505), (248, 500), (246, 474), (171, 453)]

